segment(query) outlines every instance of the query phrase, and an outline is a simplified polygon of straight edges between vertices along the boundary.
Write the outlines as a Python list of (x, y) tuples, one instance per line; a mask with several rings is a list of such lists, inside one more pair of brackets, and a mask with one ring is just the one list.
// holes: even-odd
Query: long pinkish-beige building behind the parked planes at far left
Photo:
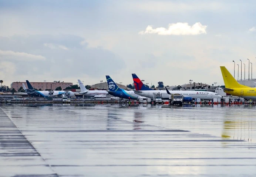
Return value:
[[(28, 88), (27, 87), (27, 82), (25, 81), (25, 82), (12, 82), (11, 83), (11, 89), (14, 88), (16, 91), (18, 91), (18, 89), (20, 87), (22, 87), (22, 83), (24, 83), (26, 85), (26, 88)], [(41, 89), (42, 91), (44, 89), (55, 90), (55, 88), (57, 88), (58, 86), (60, 86), (61, 89), (63, 90), (65, 88), (67, 88), (68, 86), (73, 85), (73, 83), (71, 83), (71, 82), (45, 82), (45, 83), (44, 82), (30, 82), (30, 84), (34, 88), (36, 88), (38, 90)], [(45, 88), (44, 88), (44, 85), (45, 85)]]

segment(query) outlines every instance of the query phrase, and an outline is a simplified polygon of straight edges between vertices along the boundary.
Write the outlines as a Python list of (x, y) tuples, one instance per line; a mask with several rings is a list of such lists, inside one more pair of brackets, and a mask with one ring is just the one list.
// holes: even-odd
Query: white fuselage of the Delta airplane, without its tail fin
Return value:
[[(154, 93), (162, 93), (162, 99), (169, 99), (169, 95), (165, 90), (148, 90), (148, 91), (134, 91), (136, 94), (141, 96), (146, 96), (148, 98), (153, 99)], [(218, 95), (214, 92), (208, 91), (171, 91), (171, 94), (182, 94), (183, 97), (191, 97), (191, 98), (200, 98), (204, 100), (212, 100), (213, 98), (222, 98), (222, 96)]]

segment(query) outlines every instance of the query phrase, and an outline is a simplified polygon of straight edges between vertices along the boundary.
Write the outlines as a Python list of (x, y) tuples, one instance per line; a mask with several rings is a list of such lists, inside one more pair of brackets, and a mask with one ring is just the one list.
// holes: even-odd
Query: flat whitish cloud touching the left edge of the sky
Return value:
[(44, 56), (34, 55), (25, 52), (14, 52), (11, 50), (0, 50), (0, 58), (14, 59), (20, 61), (46, 60)]

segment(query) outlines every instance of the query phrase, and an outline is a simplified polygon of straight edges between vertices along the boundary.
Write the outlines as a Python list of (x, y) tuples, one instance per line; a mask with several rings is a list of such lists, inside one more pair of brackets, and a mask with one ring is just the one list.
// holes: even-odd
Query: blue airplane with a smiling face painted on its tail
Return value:
[(139, 95), (135, 94), (134, 91), (127, 91), (127, 90), (119, 88), (109, 75), (106, 75), (106, 79), (108, 82), (108, 89), (109, 89), (109, 91), (107, 91), (107, 92), (110, 95), (117, 96), (119, 98), (133, 99), (133, 100), (137, 100), (139, 98), (146, 98), (144, 96), (139, 96)]

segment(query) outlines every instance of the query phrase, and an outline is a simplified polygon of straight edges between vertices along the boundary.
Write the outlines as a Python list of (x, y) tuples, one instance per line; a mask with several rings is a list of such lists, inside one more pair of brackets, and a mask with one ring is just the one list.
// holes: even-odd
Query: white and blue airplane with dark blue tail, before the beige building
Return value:
[[(56, 95), (63, 95), (63, 96), (65, 95), (70, 97), (75, 96), (75, 93), (72, 91), (53, 91), (52, 94), (50, 95), (51, 91), (36, 91), (28, 80), (26, 80), (26, 82), (28, 86), (27, 94), (31, 96), (37, 96), (41, 98), (49, 98), (50, 96), (56, 96)], [(24, 84), (22, 85), (23, 85), (23, 89), (24, 87), (26, 88)]]

